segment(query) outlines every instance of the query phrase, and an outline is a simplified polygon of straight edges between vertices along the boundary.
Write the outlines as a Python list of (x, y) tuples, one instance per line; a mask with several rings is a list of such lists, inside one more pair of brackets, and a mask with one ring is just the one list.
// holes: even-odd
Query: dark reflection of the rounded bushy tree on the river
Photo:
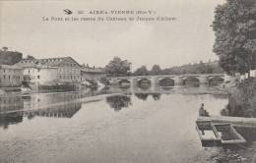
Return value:
[(106, 103), (108, 103), (109, 106), (115, 111), (122, 110), (123, 108), (128, 108), (132, 104), (131, 97), (127, 95), (108, 96), (106, 97)]

